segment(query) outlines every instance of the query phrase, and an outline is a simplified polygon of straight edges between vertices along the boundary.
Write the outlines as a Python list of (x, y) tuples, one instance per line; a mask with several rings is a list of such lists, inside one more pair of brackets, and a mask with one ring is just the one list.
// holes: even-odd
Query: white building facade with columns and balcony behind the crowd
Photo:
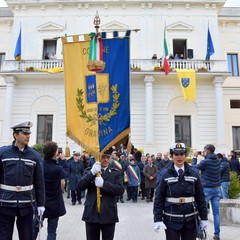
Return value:
[[(183, 141), (202, 150), (240, 149), (240, 9), (222, 1), (24, 1), (7, 0), (0, 12), (0, 145), (12, 141), (11, 125), (30, 119), (31, 145), (47, 140), (79, 149), (66, 136), (64, 74), (36, 69), (62, 66), (59, 36), (140, 29), (131, 34), (131, 142), (144, 152), (168, 151)], [(22, 29), (22, 61), (13, 60)], [(215, 53), (205, 61), (207, 31)], [(172, 71), (160, 66), (164, 30)], [(3, 37), (2, 37), (3, 36)], [(157, 59), (152, 59), (156, 54)], [(47, 56), (48, 55), (48, 56)], [(49, 59), (47, 59), (49, 57)], [(35, 71), (29, 70), (33, 67)], [(196, 100), (185, 101), (176, 68), (196, 71)], [(204, 71), (202, 71), (202, 69)]]

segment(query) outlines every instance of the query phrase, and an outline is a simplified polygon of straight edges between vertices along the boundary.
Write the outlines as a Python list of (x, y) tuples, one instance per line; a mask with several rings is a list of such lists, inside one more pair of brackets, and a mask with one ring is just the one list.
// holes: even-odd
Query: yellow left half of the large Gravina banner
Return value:
[[(63, 51), (67, 135), (89, 151), (100, 152), (98, 124), (92, 124), (92, 121), (87, 119), (94, 109), (97, 109), (98, 103), (87, 104), (86, 98), (80, 97), (81, 89), (86, 89), (86, 76), (95, 75), (86, 67), (89, 41), (64, 43)], [(97, 119), (97, 116), (95, 117)]]

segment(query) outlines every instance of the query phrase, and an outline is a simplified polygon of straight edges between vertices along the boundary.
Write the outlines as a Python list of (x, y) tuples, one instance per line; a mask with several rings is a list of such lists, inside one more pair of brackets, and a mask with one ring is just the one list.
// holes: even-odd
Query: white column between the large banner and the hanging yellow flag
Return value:
[(146, 75), (144, 78), (146, 86), (145, 94), (145, 147), (144, 152), (154, 152), (153, 145), (153, 82), (152, 75)]

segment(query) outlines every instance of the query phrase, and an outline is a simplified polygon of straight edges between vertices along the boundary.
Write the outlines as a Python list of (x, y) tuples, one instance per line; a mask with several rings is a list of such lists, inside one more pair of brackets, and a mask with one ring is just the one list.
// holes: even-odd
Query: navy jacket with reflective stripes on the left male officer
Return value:
[(40, 154), (26, 146), (23, 151), (12, 145), (0, 148), (0, 184), (7, 186), (31, 186), (32, 190), (12, 191), (0, 188), (2, 207), (26, 208), (33, 202), (45, 205), (44, 177)]

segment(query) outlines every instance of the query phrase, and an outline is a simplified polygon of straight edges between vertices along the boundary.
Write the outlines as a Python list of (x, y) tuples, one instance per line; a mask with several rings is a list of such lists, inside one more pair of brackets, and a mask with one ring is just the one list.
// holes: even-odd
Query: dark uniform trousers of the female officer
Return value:
[(166, 240), (196, 240), (196, 228), (182, 228), (180, 230), (166, 229)]

